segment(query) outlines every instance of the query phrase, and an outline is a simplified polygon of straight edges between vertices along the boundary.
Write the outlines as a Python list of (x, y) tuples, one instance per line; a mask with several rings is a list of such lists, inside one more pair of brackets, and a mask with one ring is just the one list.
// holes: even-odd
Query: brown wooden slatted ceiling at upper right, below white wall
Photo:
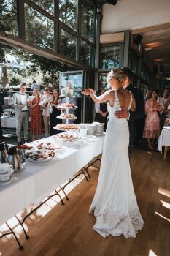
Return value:
[(170, 23), (134, 29), (131, 33), (133, 36), (142, 36), (140, 45), (158, 69), (170, 72)]

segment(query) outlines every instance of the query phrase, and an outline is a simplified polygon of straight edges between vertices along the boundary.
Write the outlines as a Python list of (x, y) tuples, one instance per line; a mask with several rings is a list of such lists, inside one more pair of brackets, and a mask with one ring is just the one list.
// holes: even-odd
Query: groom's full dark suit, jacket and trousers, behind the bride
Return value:
[(131, 150), (131, 146), (133, 145), (134, 137), (136, 135), (135, 121), (144, 118), (144, 97), (142, 92), (131, 84), (129, 84), (125, 89), (131, 91), (131, 93), (134, 94), (134, 98), (136, 100), (136, 111), (133, 112), (130, 110), (130, 117), (128, 120), (130, 133), (129, 149)]

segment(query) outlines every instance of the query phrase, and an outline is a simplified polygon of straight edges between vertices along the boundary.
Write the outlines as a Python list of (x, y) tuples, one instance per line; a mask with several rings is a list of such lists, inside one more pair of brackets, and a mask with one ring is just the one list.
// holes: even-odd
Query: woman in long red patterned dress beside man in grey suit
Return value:
[(32, 141), (35, 140), (35, 135), (38, 135), (38, 139), (40, 139), (40, 135), (42, 134), (42, 111), (39, 106), (39, 102), (41, 101), (39, 89), (34, 89), (33, 95), (35, 98), (30, 102)]

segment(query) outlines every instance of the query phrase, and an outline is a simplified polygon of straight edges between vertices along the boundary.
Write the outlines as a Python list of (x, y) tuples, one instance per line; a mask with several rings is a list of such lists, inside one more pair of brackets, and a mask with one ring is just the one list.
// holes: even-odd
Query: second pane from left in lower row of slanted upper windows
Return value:
[(25, 4), (26, 40), (42, 48), (54, 48), (53, 20)]

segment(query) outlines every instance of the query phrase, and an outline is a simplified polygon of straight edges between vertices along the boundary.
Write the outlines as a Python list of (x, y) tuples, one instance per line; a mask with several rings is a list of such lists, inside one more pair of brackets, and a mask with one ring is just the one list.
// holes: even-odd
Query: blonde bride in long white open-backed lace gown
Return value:
[(90, 95), (94, 102), (108, 101), (109, 122), (104, 139), (101, 170), (89, 210), (96, 217), (93, 229), (104, 238), (121, 234), (125, 238), (135, 238), (137, 231), (144, 225), (131, 180), (128, 121), (126, 118), (115, 117), (115, 111), (136, 109), (134, 96), (123, 89), (124, 80), (122, 69), (112, 69), (107, 76), (112, 90), (99, 97), (96, 97), (93, 89), (82, 91), (82, 94)]

